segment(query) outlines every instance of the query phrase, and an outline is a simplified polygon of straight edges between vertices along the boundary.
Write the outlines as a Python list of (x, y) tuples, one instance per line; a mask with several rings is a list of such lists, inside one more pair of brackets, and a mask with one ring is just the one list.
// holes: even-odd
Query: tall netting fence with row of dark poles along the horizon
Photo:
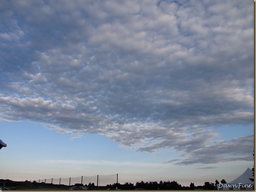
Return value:
[(118, 183), (118, 174), (113, 175), (95, 175), (95, 176), (80, 176), (69, 178), (51, 178), (51, 179), (39, 179), (33, 182), (34, 185), (39, 187), (45, 186), (73, 186), (75, 184), (81, 185), (93, 185), (95, 187), (106, 186), (107, 184)]

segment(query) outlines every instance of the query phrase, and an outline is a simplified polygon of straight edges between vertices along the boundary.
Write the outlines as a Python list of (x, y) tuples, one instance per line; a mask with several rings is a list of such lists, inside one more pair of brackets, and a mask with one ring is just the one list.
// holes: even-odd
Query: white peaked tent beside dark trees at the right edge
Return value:
[(220, 183), (217, 188), (219, 190), (253, 190), (254, 182), (251, 181), (250, 178), (254, 178), (252, 176), (252, 170), (247, 168), (247, 170), (238, 178), (229, 183)]

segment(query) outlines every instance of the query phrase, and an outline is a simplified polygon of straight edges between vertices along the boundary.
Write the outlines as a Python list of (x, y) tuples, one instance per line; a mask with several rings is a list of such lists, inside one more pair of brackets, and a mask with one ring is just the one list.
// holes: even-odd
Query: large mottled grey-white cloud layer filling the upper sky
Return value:
[(138, 151), (184, 151), (189, 158), (180, 164), (234, 160), (224, 151), (196, 155), (219, 147), (215, 127), (253, 124), (249, 2), (0, 7), (0, 119), (39, 121), (77, 137), (96, 133)]

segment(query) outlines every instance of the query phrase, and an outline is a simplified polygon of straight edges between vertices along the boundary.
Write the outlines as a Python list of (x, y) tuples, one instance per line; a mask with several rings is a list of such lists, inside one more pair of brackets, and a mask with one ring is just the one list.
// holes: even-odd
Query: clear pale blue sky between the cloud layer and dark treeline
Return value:
[[(245, 168), (251, 169), (253, 166), (252, 155), (252, 161), (237, 161), (232, 165), (218, 163), (174, 166), (165, 164), (166, 159), (177, 158), (182, 153), (170, 149), (161, 149), (155, 153), (136, 152), (105, 136), (83, 134), (81, 138), (72, 139), (72, 135), (45, 129), (41, 123), (30, 121), (0, 122), (0, 126), (1, 135), (8, 145), (0, 151), (3, 155), (0, 173), (2, 179), (42, 181), (60, 177), (119, 174), (119, 182), (122, 184), (175, 180), (189, 186), (190, 182), (203, 185), (206, 181), (214, 183), (215, 179), (232, 181)], [(249, 126), (239, 132), (241, 128), (226, 127), (224, 132), (221, 130), (223, 135), (219, 139), (234, 138), (238, 134), (246, 136), (252, 132)], [(194, 172), (197, 177), (193, 176)], [(116, 181), (115, 177), (111, 178), (113, 182)]]

